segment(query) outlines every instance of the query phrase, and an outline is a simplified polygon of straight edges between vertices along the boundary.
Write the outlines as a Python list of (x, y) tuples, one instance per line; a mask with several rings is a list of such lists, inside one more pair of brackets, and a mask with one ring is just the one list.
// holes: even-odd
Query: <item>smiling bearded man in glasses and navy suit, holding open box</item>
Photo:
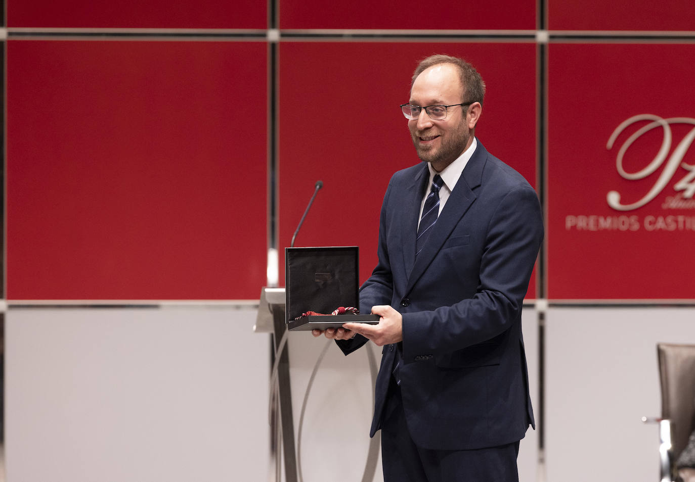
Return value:
[(518, 481), (534, 425), (521, 308), (541, 207), (475, 138), (484, 89), (459, 58), (418, 65), (401, 107), (423, 163), (391, 178), (360, 288), (361, 313), (381, 319), (325, 331), (345, 354), (384, 347), (370, 435), (382, 430), (386, 482)]

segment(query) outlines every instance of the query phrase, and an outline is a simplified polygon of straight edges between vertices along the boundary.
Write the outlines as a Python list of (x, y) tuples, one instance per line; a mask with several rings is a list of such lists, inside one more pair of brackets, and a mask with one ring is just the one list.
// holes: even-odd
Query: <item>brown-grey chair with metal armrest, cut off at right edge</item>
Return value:
[(657, 344), (661, 383), (661, 481), (677, 481), (676, 459), (695, 430), (695, 344)]

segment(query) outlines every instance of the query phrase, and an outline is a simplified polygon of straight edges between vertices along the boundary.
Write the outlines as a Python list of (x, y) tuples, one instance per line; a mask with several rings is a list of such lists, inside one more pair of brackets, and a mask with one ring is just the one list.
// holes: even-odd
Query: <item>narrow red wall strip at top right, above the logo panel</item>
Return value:
[(548, 0), (550, 30), (692, 31), (692, 0)]

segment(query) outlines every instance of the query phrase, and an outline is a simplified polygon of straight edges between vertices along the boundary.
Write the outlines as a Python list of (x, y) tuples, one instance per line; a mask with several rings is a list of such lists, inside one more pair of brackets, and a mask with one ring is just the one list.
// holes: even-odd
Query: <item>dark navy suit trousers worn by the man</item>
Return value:
[(382, 418), (384, 482), (518, 482), (519, 442), (475, 450), (417, 447), (393, 376)]

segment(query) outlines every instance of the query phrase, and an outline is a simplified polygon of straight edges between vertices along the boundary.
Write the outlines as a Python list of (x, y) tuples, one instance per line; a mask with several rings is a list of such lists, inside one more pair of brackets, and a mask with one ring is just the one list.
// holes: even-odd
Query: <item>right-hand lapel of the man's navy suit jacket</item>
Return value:
[[(475, 188), (480, 186), (482, 181), (482, 169), (485, 165), (485, 160), (487, 158), (487, 151), (478, 142), (477, 148), (471, 156), (471, 159), (466, 163), (464, 171), (461, 172), (461, 177), (456, 183), (456, 187), (449, 195), (449, 199), (446, 201), (439, 218), (437, 218), (434, 228), (432, 228), (432, 233), (430, 238), (427, 238), (423, 250), (415, 259), (415, 236), (417, 231), (417, 224), (414, 228), (413, 235), (413, 249), (411, 259), (412, 270), (410, 276), (408, 277), (408, 285), (406, 293), (415, 285), (416, 281), (423, 275), (425, 269), (430, 266), (434, 256), (439, 253), (439, 250), (443, 246), (444, 242), (449, 238), (449, 235), (454, 230), (454, 228), (461, 221), (461, 217), (464, 216), (468, 208), (471, 207), (473, 201), (475, 201)], [(418, 206), (419, 207), (419, 206)], [(419, 211), (419, 209), (418, 209)], [(406, 254), (406, 257), (407, 254)], [(414, 263), (412, 263), (414, 261)], [(406, 265), (409, 267), (410, 265)]]

